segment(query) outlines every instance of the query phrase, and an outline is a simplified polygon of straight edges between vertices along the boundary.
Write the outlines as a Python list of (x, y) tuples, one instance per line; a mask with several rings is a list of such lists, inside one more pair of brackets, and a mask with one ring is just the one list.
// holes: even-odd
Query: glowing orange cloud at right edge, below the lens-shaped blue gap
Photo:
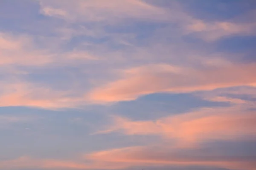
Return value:
[[(205, 115), (201, 115), (202, 113)], [(225, 113), (224, 110), (216, 109), (202, 113), (199, 113), (197, 117), (194, 117), (196, 114), (190, 113), (167, 118), (163, 121), (166, 135), (185, 142), (196, 142), (214, 139), (252, 138), (256, 134), (255, 112), (244, 111), (241, 113), (232, 110)], [(189, 118), (190, 116), (192, 118)], [(187, 118), (189, 119), (186, 120)]]

